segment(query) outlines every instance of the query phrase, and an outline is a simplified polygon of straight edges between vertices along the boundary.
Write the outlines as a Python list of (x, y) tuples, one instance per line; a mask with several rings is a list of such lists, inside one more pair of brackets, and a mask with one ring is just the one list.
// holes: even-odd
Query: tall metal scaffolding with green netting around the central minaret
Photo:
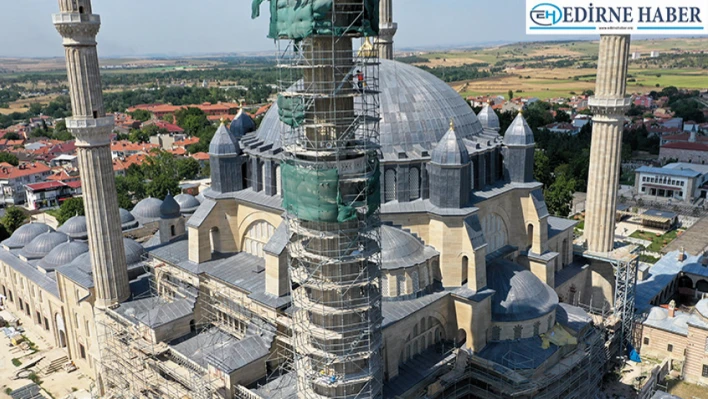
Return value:
[(296, 34), (274, 20), (309, 6), (273, 3), (298, 397), (380, 398), (378, 7), (326, 1)]

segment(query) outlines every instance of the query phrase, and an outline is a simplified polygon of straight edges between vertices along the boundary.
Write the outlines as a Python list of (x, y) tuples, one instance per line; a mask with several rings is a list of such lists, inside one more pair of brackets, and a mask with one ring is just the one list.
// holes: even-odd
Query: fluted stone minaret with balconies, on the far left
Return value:
[(111, 161), (113, 117), (103, 108), (96, 52), (101, 18), (92, 13), (91, 0), (60, 0), (59, 10), (53, 21), (64, 39), (74, 115), (66, 119), (66, 127), (76, 137), (95, 306), (105, 309), (128, 299), (130, 287)]

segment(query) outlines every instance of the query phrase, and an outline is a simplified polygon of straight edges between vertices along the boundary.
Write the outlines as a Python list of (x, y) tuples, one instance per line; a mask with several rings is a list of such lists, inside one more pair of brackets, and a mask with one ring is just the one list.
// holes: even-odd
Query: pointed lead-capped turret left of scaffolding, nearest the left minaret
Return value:
[(241, 146), (238, 138), (226, 128), (224, 121), (221, 122), (209, 145), (209, 164), (213, 191), (221, 194), (245, 188), (243, 184), (245, 160)]

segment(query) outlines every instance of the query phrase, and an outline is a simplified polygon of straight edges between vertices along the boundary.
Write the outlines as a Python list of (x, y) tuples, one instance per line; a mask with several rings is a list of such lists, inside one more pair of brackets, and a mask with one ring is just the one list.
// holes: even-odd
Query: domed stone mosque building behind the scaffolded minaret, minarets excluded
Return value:
[[(611, 302), (613, 283), (574, 260), (575, 222), (549, 215), (523, 115), (501, 136), (491, 107), (475, 115), (426, 71), (382, 59), (379, 80), (383, 396), (588, 397), (605, 342), (576, 305)], [(277, 372), (293, 361), (294, 317), (278, 113), (258, 128), (246, 113), (219, 126), (199, 196), (119, 211), (124, 235), (156, 232), (123, 240), (130, 295), (105, 311), (122, 330), (98, 320), (82, 216), (57, 231), (25, 225), (2, 243), (10, 308), (106, 390), (293, 397), (293, 373)], [(214, 396), (186, 375), (208, 377)]]

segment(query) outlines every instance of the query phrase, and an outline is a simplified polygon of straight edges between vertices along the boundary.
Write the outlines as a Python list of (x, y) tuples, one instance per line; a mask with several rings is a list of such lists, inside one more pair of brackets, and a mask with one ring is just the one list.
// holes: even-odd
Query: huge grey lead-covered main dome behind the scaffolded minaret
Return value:
[[(482, 125), (467, 102), (447, 83), (420, 68), (381, 60), (379, 90), (384, 160), (397, 159), (400, 151), (407, 152), (408, 158), (418, 158), (417, 146), (431, 151), (448, 131), (451, 119), (461, 139), (482, 133)], [(278, 105), (273, 104), (256, 137), (264, 144), (280, 147), (283, 126)]]

